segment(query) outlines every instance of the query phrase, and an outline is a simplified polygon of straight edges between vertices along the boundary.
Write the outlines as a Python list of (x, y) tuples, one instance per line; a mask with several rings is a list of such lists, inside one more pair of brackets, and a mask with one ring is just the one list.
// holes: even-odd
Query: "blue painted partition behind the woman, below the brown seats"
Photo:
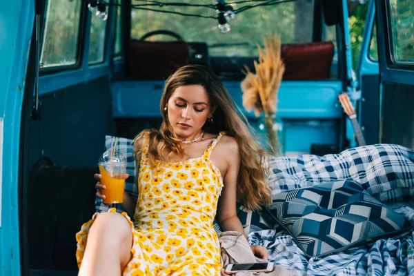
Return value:
[[(242, 105), (238, 81), (224, 81), (231, 97), (248, 118), (255, 118)], [(284, 81), (279, 89), (277, 115), (284, 118), (339, 118), (337, 96), (340, 81)], [(112, 83), (112, 110), (115, 118), (160, 117), (159, 100), (163, 81), (116, 81)]]

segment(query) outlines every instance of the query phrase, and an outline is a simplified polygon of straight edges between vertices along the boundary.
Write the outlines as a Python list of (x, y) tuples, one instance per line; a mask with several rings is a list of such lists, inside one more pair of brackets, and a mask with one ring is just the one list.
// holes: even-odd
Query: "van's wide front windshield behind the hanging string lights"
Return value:
[[(188, 3), (188, 0), (177, 0)], [(239, 1), (231, 6), (234, 10), (255, 2)], [(243, 2), (243, 3), (242, 3)], [(198, 3), (198, 2), (197, 2)], [(201, 3), (201, 2), (200, 2)], [(230, 2), (229, 2), (230, 3)], [(216, 10), (204, 7), (168, 6), (162, 8), (173, 12), (201, 14), (216, 17)], [(185, 17), (178, 14), (135, 10), (131, 12), (131, 38), (139, 39), (146, 32), (170, 30), (188, 42), (206, 42), (210, 56), (253, 57), (257, 56), (257, 43), (262, 43), (266, 34), (279, 34), (282, 43), (311, 42), (313, 36), (314, 1), (297, 0), (272, 6), (259, 6), (235, 15), (228, 21), (230, 32), (221, 33), (217, 19)], [(161, 10), (161, 8), (158, 8)], [(172, 37), (157, 35), (151, 41), (175, 40)]]

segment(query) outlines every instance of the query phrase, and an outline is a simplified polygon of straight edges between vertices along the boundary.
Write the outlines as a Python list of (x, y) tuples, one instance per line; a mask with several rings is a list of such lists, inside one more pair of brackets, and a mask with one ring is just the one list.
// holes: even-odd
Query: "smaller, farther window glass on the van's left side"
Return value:
[(88, 62), (103, 62), (105, 53), (106, 21), (101, 21), (95, 14), (92, 14), (90, 21), (90, 44)]

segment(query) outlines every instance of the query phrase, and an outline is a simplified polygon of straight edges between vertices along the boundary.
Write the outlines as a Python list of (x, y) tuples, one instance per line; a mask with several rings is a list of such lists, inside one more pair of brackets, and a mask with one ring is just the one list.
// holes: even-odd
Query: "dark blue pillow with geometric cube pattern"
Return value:
[(411, 221), (349, 180), (273, 195), (266, 209), (308, 257), (338, 253), (413, 228)]

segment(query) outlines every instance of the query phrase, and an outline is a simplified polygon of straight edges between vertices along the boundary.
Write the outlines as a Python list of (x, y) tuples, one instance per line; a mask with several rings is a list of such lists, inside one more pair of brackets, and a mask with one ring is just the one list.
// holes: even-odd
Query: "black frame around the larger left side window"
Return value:
[[(47, 0), (47, 1), (52, 1), (52, 0)], [(82, 6), (81, 6), (81, 10), (80, 10), (80, 15), (79, 15), (79, 28), (78, 28), (78, 43), (77, 43), (77, 55), (76, 55), (76, 61), (74, 64), (70, 64), (70, 65), (62, 65), (62, 66), (50, 66), (50, 67), (39, 67), (39, 75), (48, 75), (51, 73), (56, 73), (56, 72), (61, 72), (61, 71), (66, 71), (66, 70), (75, 70), (75, 69), (79, 69), (82, 67), (82, 59), (83, 59), (83, 48), (84, 48), (84, 44), (85, 44), (85, 34), (86, 34), (86, 20), (88, 19), (88, 7), (86, 6), (86, 2), (81, 1)], [(48, 4), (48, 2), (46, 3), (46, 5)], [(44, 10), (44, 14), (43, 14), (43, 19), (42, 21), (42, 26), (41, 26), (41, 49), (43, 50), (43, 42), (46, 39), (46, 37), (44, 37), (44, 31), (45, 31), (45, 26), (46, 26), (46, 17), (47, 14), (46, 12), (48, 12), (45, 8)], [(40, 55), (40, 53), (39, 53)]]

